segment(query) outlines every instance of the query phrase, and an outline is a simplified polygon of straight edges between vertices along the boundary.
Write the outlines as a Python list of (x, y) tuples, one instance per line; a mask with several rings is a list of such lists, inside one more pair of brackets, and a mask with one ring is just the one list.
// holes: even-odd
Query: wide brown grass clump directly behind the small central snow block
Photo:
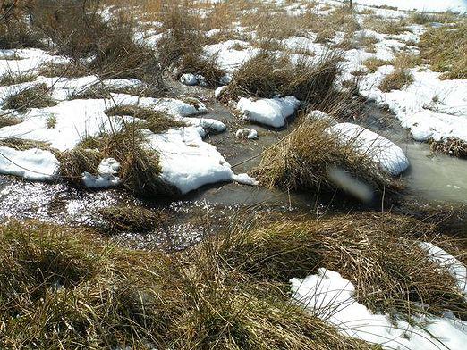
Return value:
[(306, 103), (316, 102), (333, 88), (339, 63), (339, 54), (325, 54), (312, 63), (306, 59), (291, 63), (284, 55), (261, 51), (234, 72), (223, 95), (231, 99), (295, 96)]

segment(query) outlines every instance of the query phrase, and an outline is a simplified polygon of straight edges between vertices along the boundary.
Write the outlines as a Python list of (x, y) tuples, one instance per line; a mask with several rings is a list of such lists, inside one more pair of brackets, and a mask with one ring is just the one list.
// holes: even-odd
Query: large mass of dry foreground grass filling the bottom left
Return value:
[(83, 229), (14, 221), (0, 227), (0, 242), (5, 348), (370, 348), (303, 312), (275, 284), (237, 274), (211, 242), (139, 252)]

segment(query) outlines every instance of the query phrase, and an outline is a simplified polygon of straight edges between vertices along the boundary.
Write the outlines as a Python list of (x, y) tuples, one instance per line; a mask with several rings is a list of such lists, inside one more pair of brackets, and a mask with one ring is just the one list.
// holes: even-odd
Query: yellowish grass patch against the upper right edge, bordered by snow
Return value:
[(441, 79), (467, 79), (467, 21), (430, 28), (420, 37), (420, 55)]

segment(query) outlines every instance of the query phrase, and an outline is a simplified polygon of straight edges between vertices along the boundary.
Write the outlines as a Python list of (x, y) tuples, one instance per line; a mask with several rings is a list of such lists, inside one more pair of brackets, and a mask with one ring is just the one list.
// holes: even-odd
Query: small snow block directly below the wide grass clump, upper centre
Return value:
[(285, 120), (293, 115), (299, 106), (300, 101), (294, 96), (263, 98), (256, 101), (242, 97), (237, 104), (237, 110), (249, 121), (281, 128), (285, 125)]

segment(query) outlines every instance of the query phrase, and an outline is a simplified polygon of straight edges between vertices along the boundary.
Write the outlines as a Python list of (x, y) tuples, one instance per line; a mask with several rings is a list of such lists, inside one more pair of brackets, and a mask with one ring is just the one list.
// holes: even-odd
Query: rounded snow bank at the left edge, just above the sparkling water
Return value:
[(10, 147), (0, 147), (0, 173), (21, 176), (34, 181), (55, 179), (58, 160), (49, 151), (31, 148), (18, 151)]

